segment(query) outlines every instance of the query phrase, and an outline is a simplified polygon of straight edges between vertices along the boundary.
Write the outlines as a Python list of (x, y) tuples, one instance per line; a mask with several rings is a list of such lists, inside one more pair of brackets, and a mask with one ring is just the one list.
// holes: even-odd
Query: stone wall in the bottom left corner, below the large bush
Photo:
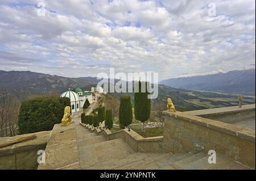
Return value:
[[(44, 150), (46, 148), (50, 132), (33, 133), (36, 134), (34, 140), (19, 142), (0, 148), (0, 170), (36, 169), (38, 167), (38, 150)], [(2, 137), (0, 138), (0, 142), (14, 139), (15, 137)]]

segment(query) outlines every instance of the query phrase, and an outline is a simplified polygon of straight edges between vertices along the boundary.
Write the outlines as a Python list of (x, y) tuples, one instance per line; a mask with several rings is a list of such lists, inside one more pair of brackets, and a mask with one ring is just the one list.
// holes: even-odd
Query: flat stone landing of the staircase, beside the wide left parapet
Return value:
[(80, 145), (80, 165), (81, 169), (87, 169), (114, 158), (126, 157), (133, 154), (130, 148), (121, 138), (99, 142), (93, 145)]

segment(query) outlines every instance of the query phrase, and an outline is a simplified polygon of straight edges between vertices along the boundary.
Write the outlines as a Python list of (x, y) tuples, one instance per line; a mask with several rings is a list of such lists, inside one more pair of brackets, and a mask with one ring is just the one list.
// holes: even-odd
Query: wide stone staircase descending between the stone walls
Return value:
[(138, 153), (121, 138), (107, 141), (79, 124), (76, 134), (81, 169), (250, 169), (221, 155), (209, 164), (204, 153)]

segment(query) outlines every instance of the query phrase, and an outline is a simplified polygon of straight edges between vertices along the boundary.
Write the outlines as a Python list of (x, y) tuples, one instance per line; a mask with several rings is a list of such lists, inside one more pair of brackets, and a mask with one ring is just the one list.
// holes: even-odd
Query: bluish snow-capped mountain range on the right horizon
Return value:
[(160, 84), (178, 89), (204, 90), (255, 96), (255, 68), (223, 73), (185, 74), (161, 81)]

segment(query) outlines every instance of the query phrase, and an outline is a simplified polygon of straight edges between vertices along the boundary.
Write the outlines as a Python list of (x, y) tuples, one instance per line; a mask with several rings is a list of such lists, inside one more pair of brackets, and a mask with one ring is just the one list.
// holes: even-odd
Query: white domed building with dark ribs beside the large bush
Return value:
[(71, 104), (71, 112), (79, 112), (80, 111), (80, 102), (81, 99), (79, 98), (79, 95), (77, 95), (76, 92), (71, 91), (70, 89), (67, 92), (63, 92), (63, 94), (60, 95), (61, 98), (69, 98), (70, 104)]

